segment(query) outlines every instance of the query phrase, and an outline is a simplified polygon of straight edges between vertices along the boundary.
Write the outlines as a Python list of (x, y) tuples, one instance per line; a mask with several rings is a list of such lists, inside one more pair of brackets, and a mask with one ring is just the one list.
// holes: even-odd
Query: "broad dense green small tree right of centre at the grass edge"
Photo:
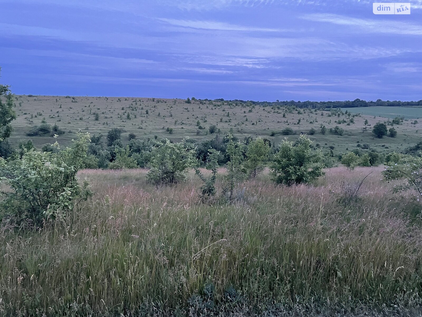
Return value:
[(271, 176), (277, 184), (309, 183), (324, 175), (322, 153), (312, 150), (311, 144), (306, 135), (301, 135), (295, 143), (287, 139), (281, 142), (271, 166)]

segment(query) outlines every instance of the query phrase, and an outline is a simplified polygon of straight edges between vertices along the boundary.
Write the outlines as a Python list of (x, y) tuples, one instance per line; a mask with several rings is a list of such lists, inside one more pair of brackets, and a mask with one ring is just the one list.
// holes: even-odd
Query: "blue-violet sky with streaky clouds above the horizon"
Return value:
[[(379, 1), (379, 0), (378, 0)], [(422, 99), (422, 0), (0, 0), (16, 94)]]

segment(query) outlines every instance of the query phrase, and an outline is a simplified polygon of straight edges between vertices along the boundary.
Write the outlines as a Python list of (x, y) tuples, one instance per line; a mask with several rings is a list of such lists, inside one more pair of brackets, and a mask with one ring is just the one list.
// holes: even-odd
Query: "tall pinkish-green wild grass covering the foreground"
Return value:
[[(342, 182), (371, 171), (341, 202)], [(421, 205), (380, 172), (336, 167), (291, 187), (265, 174), (231, 204), (203, 204), (193, 172), (156, 189), (141, 169), (82, 171), (95, 197), (64, 221), (1, 229), (0, 315), (419, 312)]]

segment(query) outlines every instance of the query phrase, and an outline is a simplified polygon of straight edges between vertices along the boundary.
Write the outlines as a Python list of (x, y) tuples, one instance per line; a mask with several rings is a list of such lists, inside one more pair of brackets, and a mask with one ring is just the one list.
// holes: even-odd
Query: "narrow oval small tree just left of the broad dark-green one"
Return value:
[(262, 138), (252, 140), (246, 150), (244, 166), (252, 178), (255, 178), (268, 164), (270, 145)]

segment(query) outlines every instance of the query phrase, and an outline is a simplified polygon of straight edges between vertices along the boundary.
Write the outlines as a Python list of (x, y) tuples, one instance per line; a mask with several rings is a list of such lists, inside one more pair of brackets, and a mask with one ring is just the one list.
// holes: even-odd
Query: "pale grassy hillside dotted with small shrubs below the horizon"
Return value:
[[(413, 120), (405, 120), (400, 125), (394, 125), (398, 131), (396, 138), (377, 139), (371, 132), (372, 126), (389, 119), (362, 115), (354, 117), (354, 123), (349, 123), (350, 117), (346, 114), (329, 117), (329, 112), (326, 111), (300, 109), (298, 113), (294, 109), (254, 106), (236, 101), (192, 101), (187, 104), (181, 99), (16, 96), (14, 103), (18, 118), (12, 123), (15, 130), (10, 141), (16, 145), (20, 139), (30, 138), (38, 148), (54, 142), (50, 135), (26, 135), (43, 118), (51, 125), (57, 123), (66, 131), (58, 138), (62, 145), (68, 144), (78, 129), (91, 134), (106, 134), (115, 127), (123, 129), (124, 142), (127, 142), (129, 133), (134, 133), (138, 138), (157, 135), (174, 141), (180, 141), (184, 137), (202, 140), (215, 137), (208, 134), (208, 127), (215, 124), (220, 129), (217, 134), (221, 137), (229, 131), (241, 139), (260, 135), (276, 145), (285, 137), (280, 133), (284, 128), (290, 127), (295, 132), (296, 135), (289, 136), (291, 139), (295, 139), (301, 132), (308, 134), (314, 128), (316, 133), (310, 136), (315, 141), (314, 145), (323, 151), (334, 147), (334, 153), (338, 154), (356, 148), (358, 142), (367, 143), (380, 152), (385, 149), (400, 151), (416, 144), (422, 133), (422, 120), (417, 124), (413, 124)], [(366, 108), (359, 109), (362, 112)], [(95, 113), (98, 114), (97, 121)], [(365, 120), (368, 120), (367, 126), (364, 124)], [(197, 121), (204, 129), (198, 129)], [(338, 123), (339, 121), (341, 122)], [(327, 128), (325, 135), (320, 132), (322, 125)], [(344, 128), (343, 136), (330, 133), (330, 128), (335, 126)], [(365, 127), (367, 131), (362, 131)], [(172, 128), (173, 134), (169, 134), (167, 128)], [(271, 136), (273, 131), (276, 133)]]

